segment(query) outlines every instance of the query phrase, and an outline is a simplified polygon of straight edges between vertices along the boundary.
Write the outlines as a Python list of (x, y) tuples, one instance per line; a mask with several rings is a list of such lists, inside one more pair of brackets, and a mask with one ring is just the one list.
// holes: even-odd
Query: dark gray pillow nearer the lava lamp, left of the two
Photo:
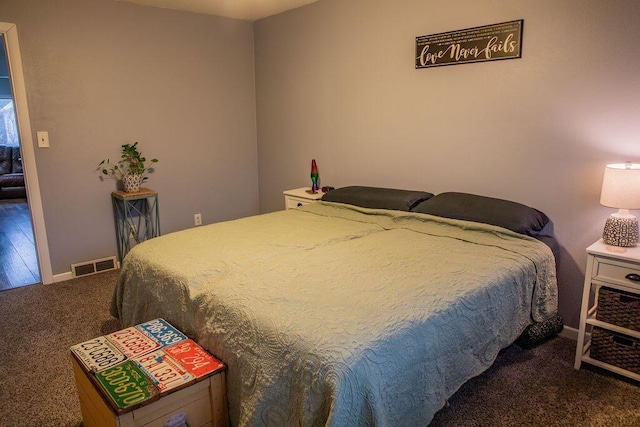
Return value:
[(350, 186), (329, 191), (322, 196), (322, 201), (346, 203), (370, 209), (410, 211), (429, 197), (433, 197), (433, 194), (426, 191)]

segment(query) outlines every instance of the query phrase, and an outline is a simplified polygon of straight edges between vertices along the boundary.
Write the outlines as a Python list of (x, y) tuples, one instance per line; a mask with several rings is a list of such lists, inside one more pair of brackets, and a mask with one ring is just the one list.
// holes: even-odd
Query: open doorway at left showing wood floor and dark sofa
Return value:
[(38, 282), (7, 48), (0, 34), (0, 290)]

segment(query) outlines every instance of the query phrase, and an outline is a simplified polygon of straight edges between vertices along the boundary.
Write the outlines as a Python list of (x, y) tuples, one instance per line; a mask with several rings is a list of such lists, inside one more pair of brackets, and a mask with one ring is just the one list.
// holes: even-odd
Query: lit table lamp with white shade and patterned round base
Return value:
[(638, 219), (629, 209), (640, 209), (640, 164), (607, 165), (600, 204), (619, 209), (607, 218), (602, 239), (607, 245), (631, 247), (638, 243)]

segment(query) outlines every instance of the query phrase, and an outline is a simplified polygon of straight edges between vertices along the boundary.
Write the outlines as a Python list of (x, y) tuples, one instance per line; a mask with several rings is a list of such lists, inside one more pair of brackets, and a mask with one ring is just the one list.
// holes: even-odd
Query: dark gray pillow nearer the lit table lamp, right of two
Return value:
[(537, 236), (549, 222), (544, 213), (529, 206), (467, 193), (438, 194), (412, 211), (497, 225), (527, 236)]

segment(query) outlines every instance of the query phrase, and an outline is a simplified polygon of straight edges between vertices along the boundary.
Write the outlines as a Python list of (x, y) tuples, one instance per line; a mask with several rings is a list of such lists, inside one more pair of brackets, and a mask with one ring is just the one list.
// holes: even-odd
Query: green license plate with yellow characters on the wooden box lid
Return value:
[(132, 360), (98, 372), (96, 379), (118, 412), (159, 395), (153, 380)]

